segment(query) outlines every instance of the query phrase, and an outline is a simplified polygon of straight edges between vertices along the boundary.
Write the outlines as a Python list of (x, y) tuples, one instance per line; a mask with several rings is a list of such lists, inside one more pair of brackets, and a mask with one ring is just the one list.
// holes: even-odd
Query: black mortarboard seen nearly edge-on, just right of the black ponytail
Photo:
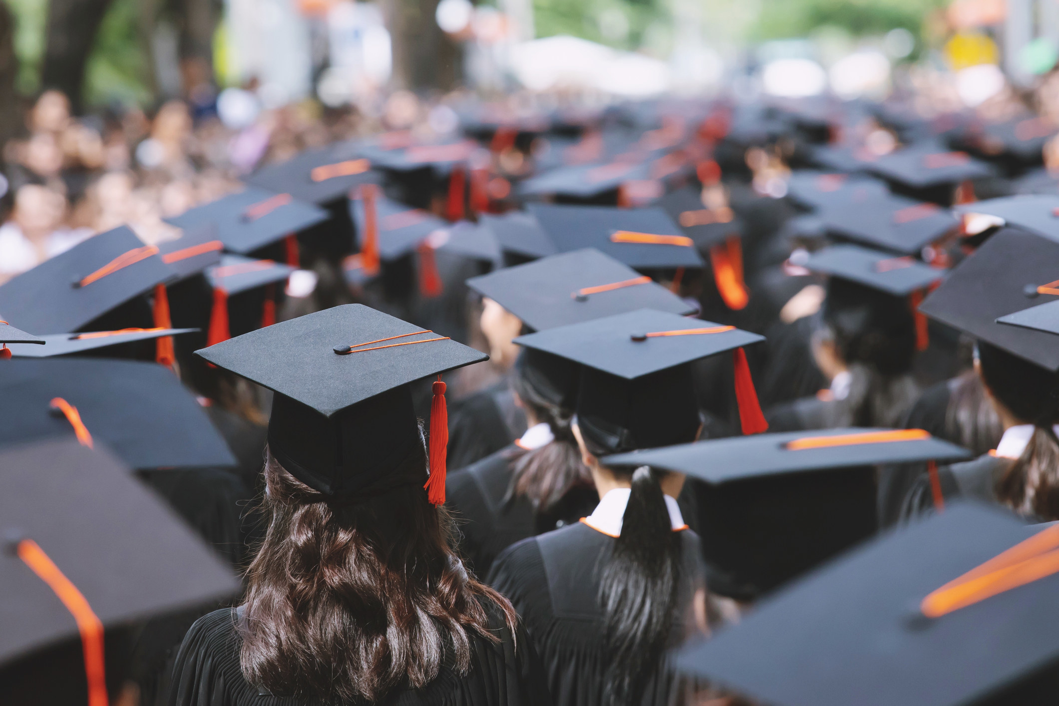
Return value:
[(922, 430), (830, 429), (712, 439), (609, 456), (687, 473), (711, 590), (755, 599), (873, 533), (879, 464), (963, 460)]

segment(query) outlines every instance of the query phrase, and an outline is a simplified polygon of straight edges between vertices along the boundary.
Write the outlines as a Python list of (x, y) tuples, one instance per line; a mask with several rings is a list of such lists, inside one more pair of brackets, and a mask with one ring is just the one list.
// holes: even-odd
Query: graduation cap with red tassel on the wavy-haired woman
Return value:
[[(409, 383), (487, 360), (447, 337), (359, 304), (251, 331), (196, 351), (274, 391), (269, 449), (294, 477), (334, 497), (423, 484), (409, 465), (421, 436)], [(445, 502), (445, 383), (433, 385), (429, 500)]]

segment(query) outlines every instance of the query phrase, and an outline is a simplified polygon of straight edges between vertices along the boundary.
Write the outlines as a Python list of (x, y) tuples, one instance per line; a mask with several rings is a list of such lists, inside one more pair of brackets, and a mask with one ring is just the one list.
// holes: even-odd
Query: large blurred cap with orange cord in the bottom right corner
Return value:
[(1030, 531), (954, 505), (688, 645), (678, 669), (776, 706), (1054, 703), (1057, 537)]

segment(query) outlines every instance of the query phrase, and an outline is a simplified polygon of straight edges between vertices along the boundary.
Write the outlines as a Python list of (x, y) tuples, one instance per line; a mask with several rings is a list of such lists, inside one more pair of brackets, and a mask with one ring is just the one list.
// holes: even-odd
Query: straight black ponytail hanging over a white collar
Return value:
[(606, 704), (640, 701), (672, 630), (680, 584), (680, 535), (672, 531), (659, 482), (647, 466), (632, 473), (622, 533), (603, 566), (599, 601), (606, 613)]

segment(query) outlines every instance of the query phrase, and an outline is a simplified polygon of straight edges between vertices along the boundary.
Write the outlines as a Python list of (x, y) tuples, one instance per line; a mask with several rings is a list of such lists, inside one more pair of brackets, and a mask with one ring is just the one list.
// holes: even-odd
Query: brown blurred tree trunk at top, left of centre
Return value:
[(460, 48), (434, 20), (438, 0), (385, 0), (393, 43), (393, 84), (412, 91), (454, 88), (462, 79)]

